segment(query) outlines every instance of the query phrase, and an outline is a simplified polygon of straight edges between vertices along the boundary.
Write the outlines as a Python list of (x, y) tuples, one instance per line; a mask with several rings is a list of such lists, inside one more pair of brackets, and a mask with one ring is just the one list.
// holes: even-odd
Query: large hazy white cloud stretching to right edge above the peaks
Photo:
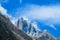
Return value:
[[(26, 5), (24, 8), (17, 10), (17, 14), (27, 16), (31, 19), (40, 19), (43, 21), (48, 20), (52, 23), (60, 23), (60, 5), (54, 6), (39, 6), (39, 5)], [(50, 19), (50, 20), (49, 20)], [(51, 20), (52, 19), (52, 20)]]

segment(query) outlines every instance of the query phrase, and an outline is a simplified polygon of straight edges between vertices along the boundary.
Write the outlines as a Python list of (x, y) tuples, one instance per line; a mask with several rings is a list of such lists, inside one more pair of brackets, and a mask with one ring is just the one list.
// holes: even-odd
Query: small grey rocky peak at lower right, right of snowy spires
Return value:
[(53, 37), (47, 30), (44, 30), (43, 33), (37, 40), (57, 40), (55, 37)]

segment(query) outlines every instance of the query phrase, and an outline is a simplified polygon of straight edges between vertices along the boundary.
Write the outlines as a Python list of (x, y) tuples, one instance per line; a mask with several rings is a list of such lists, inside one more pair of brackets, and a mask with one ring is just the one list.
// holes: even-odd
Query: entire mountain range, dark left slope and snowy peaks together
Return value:
[(41, 31), (38, 26), (25, 17), (13, 24), (8, 16), (0, 12), (0, 40), (60, 40), (48, 30)]

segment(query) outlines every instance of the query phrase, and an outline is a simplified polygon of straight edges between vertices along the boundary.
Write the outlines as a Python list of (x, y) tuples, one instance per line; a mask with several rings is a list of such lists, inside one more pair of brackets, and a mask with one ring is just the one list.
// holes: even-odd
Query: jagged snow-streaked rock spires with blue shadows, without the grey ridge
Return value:
[(37, 25), (30, 23), (29, 20), (25, 17), (21, 17), (20, 19), (18, 19), (15, 22), (15, 26), (32, 37), (37, 37), (38, 32), (40, 32), (40, 30), (37, 28)]

